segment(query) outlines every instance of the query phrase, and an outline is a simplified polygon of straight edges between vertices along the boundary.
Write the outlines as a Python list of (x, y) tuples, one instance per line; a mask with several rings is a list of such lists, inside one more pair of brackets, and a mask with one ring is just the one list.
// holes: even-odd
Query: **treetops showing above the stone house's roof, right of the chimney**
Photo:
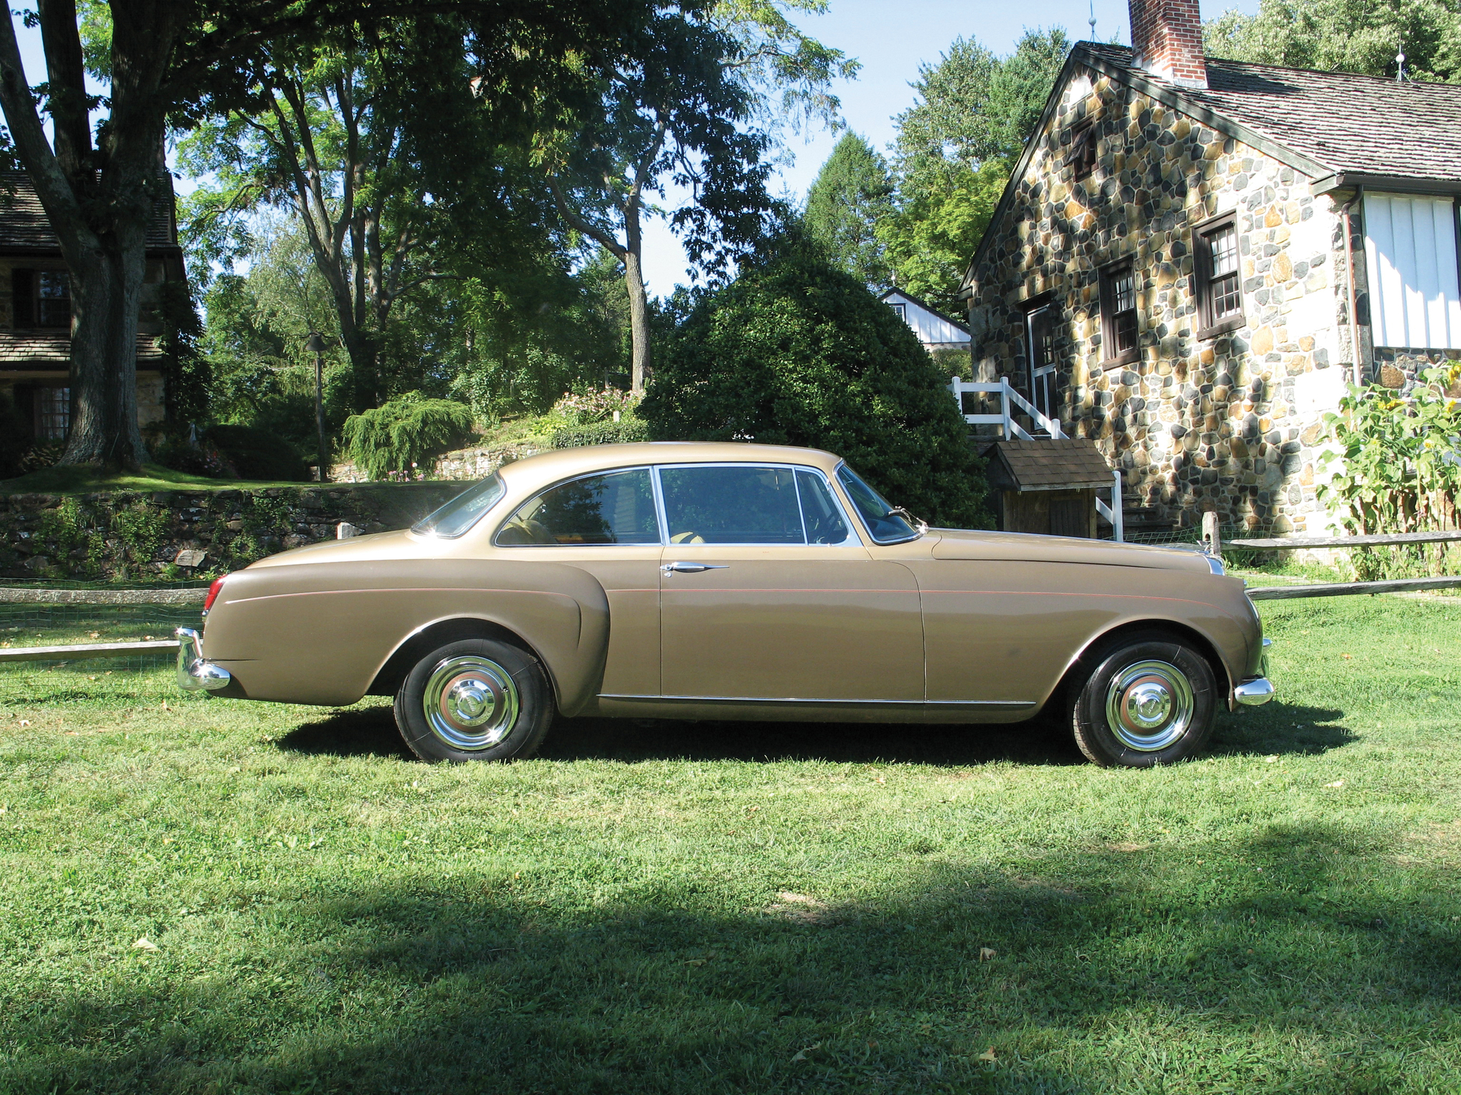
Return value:
[(1262, 0), (1202, 26), (1214, 57), (1296, 69), (1395, 76), (1395, 54), (1417, 80), (1461, 82), (1458, 0)]

